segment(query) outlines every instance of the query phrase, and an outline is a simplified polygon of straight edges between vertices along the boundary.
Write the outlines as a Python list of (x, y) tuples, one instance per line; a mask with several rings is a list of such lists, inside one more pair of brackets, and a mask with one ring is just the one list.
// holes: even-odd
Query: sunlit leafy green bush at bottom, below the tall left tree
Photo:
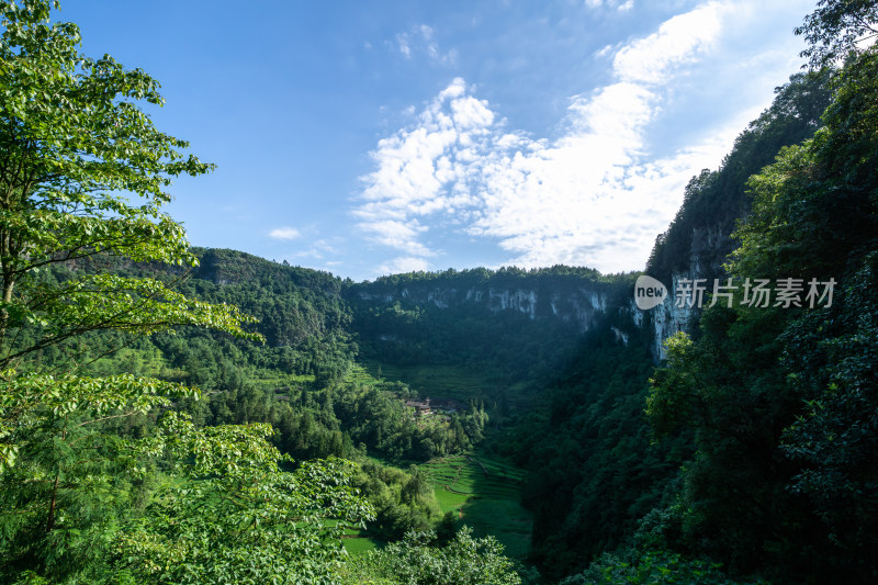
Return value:
[(291, 460), (271, 434), (166, 415), (143, 448), (170, 451), (175, 481), (120, 531), (116, 567), (149, 583), (334, 583), (345, 526), (364, 526), (371, 508), (350, 486), (351, 463), (282, 471)]

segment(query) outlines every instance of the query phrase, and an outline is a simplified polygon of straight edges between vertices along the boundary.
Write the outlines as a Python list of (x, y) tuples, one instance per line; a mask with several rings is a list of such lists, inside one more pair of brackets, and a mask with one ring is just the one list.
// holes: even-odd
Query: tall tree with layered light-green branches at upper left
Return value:
[(48, 266), (98, 254), (193, 266), (182, 226), (161, 206), (175, 177), (213, 168), (153, 124), (142, 104), (164, 103), (155, 79), (80, 54), (78, 27), (49, 12), (47, 0), (0, 2), (0, 369), (93, 329), (201, 324), (245, 335), (235, 307), (157, 280), (44, 278)]

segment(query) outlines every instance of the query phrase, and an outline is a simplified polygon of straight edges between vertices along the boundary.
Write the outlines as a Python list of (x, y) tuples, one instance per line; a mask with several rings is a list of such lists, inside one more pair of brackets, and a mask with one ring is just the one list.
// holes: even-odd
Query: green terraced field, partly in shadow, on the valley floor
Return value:
[(506, 554), (524, 558), (531, 516), (519, 504), (524, 472), (479, 454), (434, 459), (421, 465), (442, 511), (454, 511), (476, 536), (494, 535)]

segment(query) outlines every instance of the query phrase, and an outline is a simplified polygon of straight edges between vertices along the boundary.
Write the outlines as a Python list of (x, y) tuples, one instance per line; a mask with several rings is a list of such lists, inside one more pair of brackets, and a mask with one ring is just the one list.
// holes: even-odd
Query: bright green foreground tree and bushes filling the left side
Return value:
[[(212, 166), (139, 108), (162, 103), (158, 83), (80, 55), (77, 26), (52, 23), (48, 1), (2, 1), (0, 16), (0, 578), (337, 581), (344, 524), (371, 517), (350, 463), (292, 470), (268, 425), (198, 427), (177, 415), (196, 390), (82, 375), (89, 346), (119, 349), (95, 331), (262, 336), (245, 331), (251, 319), (237, 308), (187, 297), (168, 279), (58, 278), (60, 265), (103, 256), (195, 266), (160, 207), (172, 177)], [(38, 359), (47, 351), (54, 362)]]

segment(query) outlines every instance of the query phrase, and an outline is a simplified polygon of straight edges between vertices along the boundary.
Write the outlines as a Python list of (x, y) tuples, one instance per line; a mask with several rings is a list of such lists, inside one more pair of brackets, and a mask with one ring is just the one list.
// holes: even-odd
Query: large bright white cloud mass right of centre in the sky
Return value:
[(509, 128), (454, 79), (371, 153), (353, 214), (373, 241), (404, 254), (379, 270), (428, 269), (440, 251), (432, 236), (449, 233), (495, 241), (518, 266), (642, 267), (689, 178), (716, 167), (743, 124), (666, 158), (644, 150), (668, 82), (713, 47), (728, 11), (710, 2), (616, 47), (612, 81), (573, 97), (553, 139)]

